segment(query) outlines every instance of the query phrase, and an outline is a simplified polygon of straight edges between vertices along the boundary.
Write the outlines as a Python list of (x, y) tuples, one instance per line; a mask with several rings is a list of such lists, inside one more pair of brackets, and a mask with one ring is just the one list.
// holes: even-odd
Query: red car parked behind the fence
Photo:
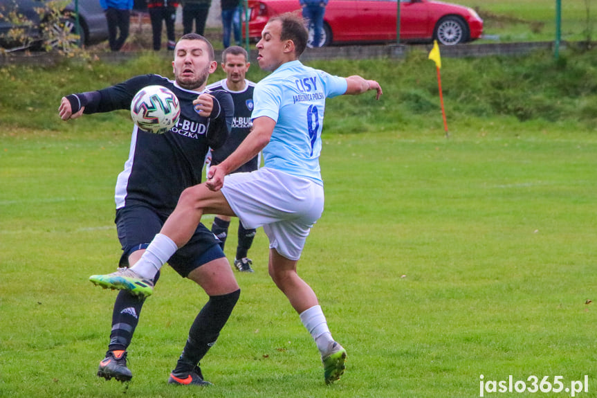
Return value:
[[(300, 12), (299, 0), (249, 0), (249, 37), (259, 39), (268, 19)], [(396, 41), (396, 0), (329, 0), (322, 46)], [(243, 32), (245, 32), (243, 28)], [(483, 20), (469, 7), (432, 0), (400, 0), (400, 41), (441, 44), (471, 42), (483, 33)], [(313, 29), (309, 28), (310, 36)]]

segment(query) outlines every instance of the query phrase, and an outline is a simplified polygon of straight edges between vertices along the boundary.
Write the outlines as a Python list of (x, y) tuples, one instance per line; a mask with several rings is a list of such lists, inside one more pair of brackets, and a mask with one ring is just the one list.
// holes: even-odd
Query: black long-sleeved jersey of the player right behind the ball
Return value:
[(76, 96), (85, 106), (85, 114), (130, 109), (137, 91), (151, 84), (167, 87), (176, 94), (181, 116), (165, 134), (134, 127), (129, 159), (116, 183), (116, 208), (140, 202), (158, 211), (172, 212), (181, 192), (201, 183), (209, 147), (219, 147), (228, 138), (234, 105), (226, 91), (206, 90), (217, 101), (209, 118), (199, 116), (192, 101), (201, 93), (182, 89), (160, 75), (140, 75), (107, 89)]

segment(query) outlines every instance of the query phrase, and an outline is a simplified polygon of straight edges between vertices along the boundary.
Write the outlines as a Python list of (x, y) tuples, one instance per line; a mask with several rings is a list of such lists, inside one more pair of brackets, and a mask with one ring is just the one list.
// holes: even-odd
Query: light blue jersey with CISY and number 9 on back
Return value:
[(266, 168), (282, 170), (323, 184), (319, 165), (325, 99), (347, 90), (345, 78), (286, 62), (255, 86), (251, 118), (276, 121), (263, 150)]

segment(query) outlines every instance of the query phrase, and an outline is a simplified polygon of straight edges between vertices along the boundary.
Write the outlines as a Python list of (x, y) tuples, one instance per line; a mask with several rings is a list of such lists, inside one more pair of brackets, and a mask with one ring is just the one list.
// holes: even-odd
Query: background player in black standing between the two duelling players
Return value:
[[(232, 132), (226, 143), (219, 149), (212, 149), (211, 164), (217, 165), (235, 152), (240, 143), (250, 133), (251, 113), (253, 110), (253, 89), (255, 83), (246, 80), (245, 76), (249, 70), (248, 54), (246, 50), (239, 46), (226, 48), (222, 53), (222, 69), (226, 72), (226, 79), (212, 83), (208, 89), (226, 90), (232, 96), (235, 102), (235, 116), (232, 119)], [(252, 172), (259, 167), (259, 156), (241, 165), (234, 172)], [(222, 250), (228, 237), (228, 226), (230, 226), (230, 217), (226, 215), (217, 215), (212, 224), (212, 233), (221, 240)], [(247, 257), (248, 251), (255, 238), (256, 230), (246, 229), (239, 222), (237, 254), (235, 256), (235, 266), (239, 271), (252, 272), (252, 260)]]

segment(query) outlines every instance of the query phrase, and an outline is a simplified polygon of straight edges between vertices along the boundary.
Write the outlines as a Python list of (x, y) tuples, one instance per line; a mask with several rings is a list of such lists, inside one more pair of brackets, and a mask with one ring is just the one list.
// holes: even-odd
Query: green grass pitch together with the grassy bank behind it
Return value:
[(561, 376), (569, 390), (586, 375), (576, 396), (596, 397), (595, 57), (446, 60), (450, 138), (424, 57), (315, 64), (385, 90), (326, 114), (326, 210), (299, 271), (349, 352), (330, 387), (267, 275), (261, 230), (256, 272), (237, 273), (241, 300), (202, 363), (214, 387), (166, 383), (206, 300), (169, 268), (129, 347), (134, 379), (95, 377), (116, 293), (87, 278), (120, 256), (113, 186), (130, 122), (62, 123), (56, 110), (156, 59), (0, 69), (0, 397), (479, 397), (481, 381), (510, 375), (529, 388)]

